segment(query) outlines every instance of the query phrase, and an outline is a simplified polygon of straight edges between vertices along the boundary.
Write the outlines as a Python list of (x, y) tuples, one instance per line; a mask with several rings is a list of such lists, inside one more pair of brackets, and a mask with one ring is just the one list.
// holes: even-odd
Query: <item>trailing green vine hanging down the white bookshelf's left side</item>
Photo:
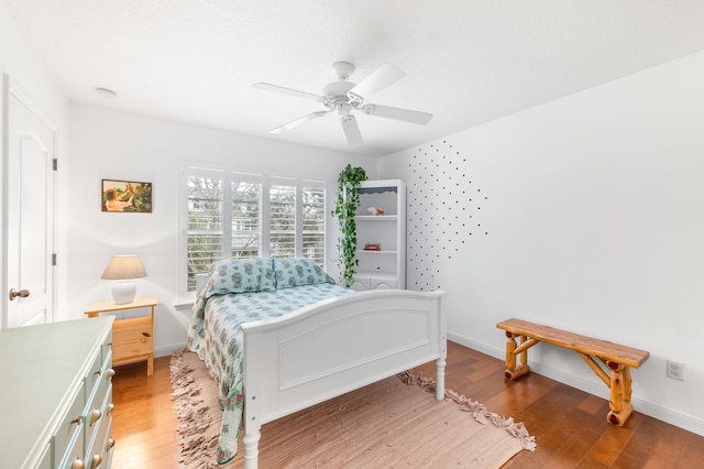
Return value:
[(340, 222), (340, 236), (338, 237), (339, 263), (342, 268), (344, 286), (352, 286), (356, 272), (356, 222), (354, 214), (360, 205), (360, 183), (366, 181), (366, 172), (362, 167), (352, 167), (348, 164), (338, 177), (338, 198), (334, 204), (333, 216)]

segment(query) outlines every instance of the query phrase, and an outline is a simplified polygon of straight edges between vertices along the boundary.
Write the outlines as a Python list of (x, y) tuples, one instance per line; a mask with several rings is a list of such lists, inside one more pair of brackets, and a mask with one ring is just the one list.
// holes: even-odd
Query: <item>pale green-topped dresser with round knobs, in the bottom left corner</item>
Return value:
[(0, 467), (110, 467), (112, 321), (0, 330)]

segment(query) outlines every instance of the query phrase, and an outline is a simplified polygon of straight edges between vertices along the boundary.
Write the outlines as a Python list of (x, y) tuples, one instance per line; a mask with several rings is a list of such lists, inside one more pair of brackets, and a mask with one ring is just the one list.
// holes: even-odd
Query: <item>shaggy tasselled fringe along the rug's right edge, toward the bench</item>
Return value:
[[(432, 378), (424, 377), (421, 373), (416, 374), (410, 371), (404, 371), (398, 374), (398, 378), (406, 384), (417, 384), (428, 392), (436, 391), (436, 381)], [(516, 423), (513, 417), (505, 418), (494, 412), (490, 412), (484, 405), (453, 390), (446, 389), (444, 396), (458, 403), (460, 410), (471, 413), (476, 422), (481, 424), (492, 423), (495, 427), (503, 428), (514, 438), (517, 438), (524, 449), (528, 451), (536, 450), (538, 446), (536, 437), (528, 433), (522, 422)]]

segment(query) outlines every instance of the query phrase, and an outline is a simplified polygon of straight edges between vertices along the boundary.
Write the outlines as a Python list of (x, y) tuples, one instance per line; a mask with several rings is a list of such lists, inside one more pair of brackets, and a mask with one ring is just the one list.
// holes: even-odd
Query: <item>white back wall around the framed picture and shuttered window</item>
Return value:
[[(330, 208), (339, 172), (348, 164), (375, 176), (377, 160), (258, 139), (103, 108), (70, 106), (68, 214), (69, 284), (64, 318), (80, 317), (110, 299), (100, 274), (113, 254), (142, 257), (147, 277), (138, 295), (157, 296), (155, 353), (185, 345), (190, 309), (174, 305), (178, 287), (179, 168), (186, 164), (328, 182)], [(101, 179), (153, 183), (152, 214), (102, 212)], [(332, 218), (328, 222), (337, 227)], [(336, 232), (337, 230), (333, 230)], [(328, 270), (336, 272), (336, 239), (328, 239)]]

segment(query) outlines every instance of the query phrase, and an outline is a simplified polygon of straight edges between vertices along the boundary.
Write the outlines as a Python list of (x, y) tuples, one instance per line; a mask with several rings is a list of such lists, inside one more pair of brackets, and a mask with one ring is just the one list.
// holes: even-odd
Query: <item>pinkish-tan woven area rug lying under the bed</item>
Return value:
[[(204, 362), (176, 352), (170, 377), (184, 467), (243, 467), (241, 441), (215, 461), (221, 411)], [(405, 372), (263, 425), (260, 468), (499, 468), (535, 448), (522, 424), (452, 390), (437, 401), (435, 381)]]

